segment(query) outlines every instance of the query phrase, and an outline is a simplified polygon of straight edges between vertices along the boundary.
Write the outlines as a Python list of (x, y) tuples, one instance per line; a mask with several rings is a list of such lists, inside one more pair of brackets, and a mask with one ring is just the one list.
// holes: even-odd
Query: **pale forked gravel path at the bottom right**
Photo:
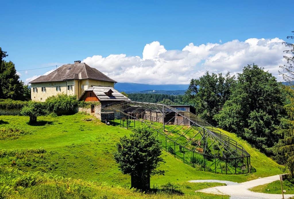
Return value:
[[(204, 193), (213, 193), (213, 194), (222, 194), (222, 195), (230, 195), (231, 199), (280, 199), (282, 198), (282, 194), (269, 194), (269, 193), (257, 193), (249, 191), (249, 188), (263, 185), (267, 183), (271, 183), (273, 181), (280, 180), (279, 175), (269, 176), (265, 178), (259, 178), (256, 180), (251, 180), (243, 183), (236, 183), (231, 181), (224, 180), (190, 180), (189, 182), (219, 182), (226, 183), (227, 186), (217, 186), (212, 188), (206, 188), (198, 190), (199, 192)], [(196, 191), (197, 192), (197, 191)], [(284, 198), (290, 198), (290, 194), (284, 194)]]

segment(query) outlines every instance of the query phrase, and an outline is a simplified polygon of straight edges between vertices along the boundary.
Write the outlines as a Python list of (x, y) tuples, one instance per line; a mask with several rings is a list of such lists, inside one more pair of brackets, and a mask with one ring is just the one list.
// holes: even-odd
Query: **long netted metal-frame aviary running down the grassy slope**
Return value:
[(255, 172), (250, 166), (250, 154), (240, 144), (191, 112), (134, 101), (117, 102), (101, 113), (110, 110), (115, 112), (115, 124), (149, 127), (167, 152), (198, 170), (223, 174)]

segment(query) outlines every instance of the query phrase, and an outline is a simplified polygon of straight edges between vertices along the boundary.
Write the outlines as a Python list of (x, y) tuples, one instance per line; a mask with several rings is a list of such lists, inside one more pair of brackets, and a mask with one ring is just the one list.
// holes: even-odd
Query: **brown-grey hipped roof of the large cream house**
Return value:
[(48, 75), (40, 76), (29, 83), (39, 83), (39, 82), (56, 82), (64, 80), (80, 80), (80, 79), (93, 79), (102, 80), (108, 82), (116, 82), (115, 80), (107, 77), (96, 68), (91, 68), (85, 63), (75, 63), (75, 64), (64, 64), (54, 70)]

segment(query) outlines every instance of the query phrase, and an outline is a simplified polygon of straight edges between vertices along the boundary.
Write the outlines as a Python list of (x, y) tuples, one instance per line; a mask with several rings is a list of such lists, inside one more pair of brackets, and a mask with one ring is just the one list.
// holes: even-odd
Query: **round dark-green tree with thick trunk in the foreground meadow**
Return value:
[(130, 137), (124, 136), (116, 145), (114, 159), (123, 174), (131, 175), (131, 187), (142, 191), (150, 189), (151, 175), (164, 175), (156, 169), (161, 162), (161, 143), (146, 127), (133, 129)]

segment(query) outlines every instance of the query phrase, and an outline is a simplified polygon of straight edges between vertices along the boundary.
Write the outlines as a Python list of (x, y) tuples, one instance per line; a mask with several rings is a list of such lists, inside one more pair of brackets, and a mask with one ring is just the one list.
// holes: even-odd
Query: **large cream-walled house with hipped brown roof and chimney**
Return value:
[(48, 75), (40, 76), (31, 82), (31, 99), (44, 102), (48, 97), (59, 93), (76, 95), (77, 99), (92, 86), (114, 88), (115, 80), (107, 77), (96, 68), (81, 61), (65, 64)]

